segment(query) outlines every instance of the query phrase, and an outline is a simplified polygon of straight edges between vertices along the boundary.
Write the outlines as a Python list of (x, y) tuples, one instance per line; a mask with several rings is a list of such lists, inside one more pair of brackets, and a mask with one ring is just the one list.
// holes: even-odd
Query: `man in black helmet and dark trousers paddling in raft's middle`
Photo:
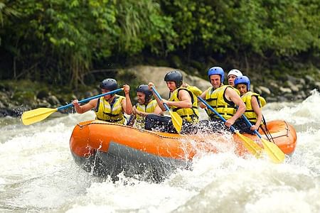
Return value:
[[(188, 87), (181, 87), (183, 84), (183, 77), (181, 72), (174, 70), (166, 73), (164, 77), (166, 86), (168, 87), (170, 93), (169, 100), (156, 98), (159, 107), (162, 111), (166, 111), (164, 103), (170, 107), (172, 111), (181, 116), (183, 119), (181, 133), (196, 133), (196, 125), (198, 123), (199, 113), (198, 113), (198, 101), (197, 97), (193, 92), (191, 92)], [(149, 89), (154, 86), (153, 82), (149, 82)], [(158, 116), (155, 114), (149, 114), (146, 116), (145, 129), (164, 131), (170, 133), (176, 133), (172, 120), (168, 116)]]

